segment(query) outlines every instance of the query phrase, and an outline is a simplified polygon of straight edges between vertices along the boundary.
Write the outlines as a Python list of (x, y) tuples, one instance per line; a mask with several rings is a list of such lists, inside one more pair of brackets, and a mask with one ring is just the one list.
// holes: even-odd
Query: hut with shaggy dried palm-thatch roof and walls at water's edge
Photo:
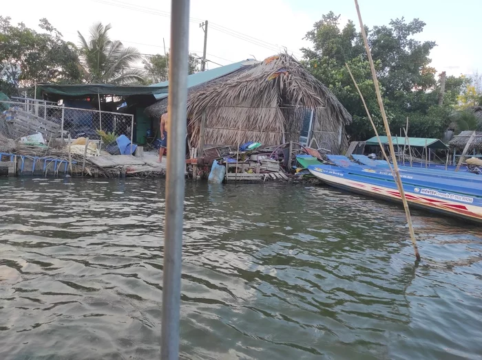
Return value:
[[(167, 99), (146, 109), (158, 119)], [(199, 143), (206, 116), (205, 144), (264, 145), (300, 140), (306, 110), (313, 110), (311, 135), (319, 147), (338, 153), (347, 146), (351, 116), (331, 91), (288, 54), (266, 58), (189, 89), (187, 116), (191, 146)], [(308, 116), (309, 123), (309, 116)]]

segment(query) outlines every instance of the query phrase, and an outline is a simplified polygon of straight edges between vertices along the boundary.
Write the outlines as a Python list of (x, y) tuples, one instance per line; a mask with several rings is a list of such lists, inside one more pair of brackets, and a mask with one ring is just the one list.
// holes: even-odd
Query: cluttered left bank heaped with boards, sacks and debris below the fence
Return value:
[[(70, 135), (64, 139), (61, 125), (10, 106), (0, 113), (0, 161), (14, 164), (16, 175), (165, 175), (165, 166), (158, 164), (157, 156), (143, 157), (143, 149), (131, 144), (125, 135), (106, 143), (102, 132), (98, 133), (98, 139), (70, 139)], [(102, 144), (107, 144), (107, 151), (101, 150)]]

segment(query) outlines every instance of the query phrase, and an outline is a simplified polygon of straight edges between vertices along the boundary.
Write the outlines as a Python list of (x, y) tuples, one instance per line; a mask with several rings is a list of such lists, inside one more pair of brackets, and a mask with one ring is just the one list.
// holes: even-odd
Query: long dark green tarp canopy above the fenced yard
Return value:
[(57, 85), (39, 84), (37, 93), (40, 98), (47, 95), (48, 98), (87, 98), (94, 95), (158, 95), (168, 92), (167, 86), (147, 87), (147, 86), (126, 86), (111, 84), (81, 84), (81, 85)]

